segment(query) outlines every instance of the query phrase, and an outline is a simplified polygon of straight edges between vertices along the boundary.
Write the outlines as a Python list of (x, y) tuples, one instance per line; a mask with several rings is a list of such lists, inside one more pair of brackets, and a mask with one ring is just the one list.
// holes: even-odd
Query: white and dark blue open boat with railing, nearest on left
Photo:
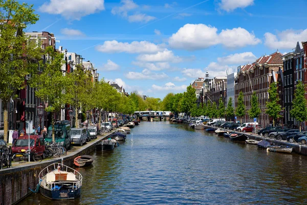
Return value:
[(53, 163), (39, 172), (40, 193), (50, 199), (75, 199), (81, 194), (82, 175), (61, 163)]

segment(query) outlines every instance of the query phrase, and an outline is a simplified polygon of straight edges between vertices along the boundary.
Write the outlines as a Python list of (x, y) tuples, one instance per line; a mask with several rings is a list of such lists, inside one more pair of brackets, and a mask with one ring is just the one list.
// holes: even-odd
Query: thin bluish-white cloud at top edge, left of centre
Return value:
[[(120, 15), (128, 19), (129, 22), (144, 22), (147, 23), (150, 20), (155, 19), (155, 16), (149, 16), (144, 13), (134, 13), (133, 15), (129, 15), (128, 12), (131, 10), (135, 10), (139, 7), (134, 1), (132, 0), (121, 0), (120, 3), (122, 6), (120, 7), (113, 7), (111, 13), (114, 15)], [(145, 6), (146, 7), (146, 6)]]

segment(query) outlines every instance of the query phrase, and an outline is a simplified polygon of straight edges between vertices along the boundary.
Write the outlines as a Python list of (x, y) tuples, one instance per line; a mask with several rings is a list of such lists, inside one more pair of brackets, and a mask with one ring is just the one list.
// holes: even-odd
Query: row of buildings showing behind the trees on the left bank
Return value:
[[(63, 75), (66, 73), (73, 72), (76, 65), (81, 64), (84, 69), (89, 70), (92, 73), (92, 81), (98, 80), (99, 74), (97, 73), (97, 69), (94, 68), (91, 61), (83, 61), (84, 58), (82, 58), (81, 55), (74, 53), (74, 52), (68, 52), (67, 49), (63, 49), (61, 46), (59, 46), (58, 49), (56, 49), (56, 37), (53, 33), (49, 32), (27, 32), (25, 33), (31, 41), (35, 43), (41, 42), (41, 48), (46, 49), (48, 46), (52, 46), (57, 52), (62, 53), (64, 56), (65, 63), (62, 65), (62, 72)], [(42, 56), (43, 63), (45, 63), (46, 56)], [(39, 71), (42, 71), (41, 68), (38, 68)], [(35, 88), (31, 88), (29, 85), (27, 85), (27, 81), (31, 78), (30, 75), (25, 77), (25, 84), (26, 87), (23, 90), (17, 91), (17, 98), (11, 99), (9, 106), (8, 106), (8, 120), (9, 120), (9, 129), (19, 129), (22, 130), (25, 128), (25, 121), (26, 120), (32, 120), (33, 125), (35, 127), (38, 127), (39, 124), (39, 116), (37, 113), (37, 106), (43, 105), (46, 107), (45, 102), (43, 102), (40, 98), (37, 98), (35, 96)], [(56, 113), (55, 119), (56, 120), (64, 120), (69, 119), (69, 105), (65, 105), (65, 108), (63, 108), (59, 113)], [(3, 103), (0, 99), (0, 129), (3, 129), (4, 127), (4, 116), (3, 116)], [(42, 118), (41, 118), (41, 127), (43, 126), (49, 126), (51, 124), (51, 115), (50, 113), (44, 112)]]

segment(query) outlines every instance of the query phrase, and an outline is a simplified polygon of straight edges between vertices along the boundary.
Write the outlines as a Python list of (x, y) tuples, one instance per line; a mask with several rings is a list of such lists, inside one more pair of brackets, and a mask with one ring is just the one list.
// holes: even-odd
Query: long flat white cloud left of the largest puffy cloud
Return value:
[(103, 53), (156, 53), (163, 50), (160, 46), (147, 41), (122, 43), (117, 40), (106, 40), (103, 45), (96, 47), (97, 51)]

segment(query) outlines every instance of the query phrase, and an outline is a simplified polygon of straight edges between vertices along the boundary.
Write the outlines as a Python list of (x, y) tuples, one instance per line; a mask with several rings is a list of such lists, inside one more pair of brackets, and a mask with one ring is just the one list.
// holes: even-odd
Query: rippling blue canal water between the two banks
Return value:
[(168, 121), (141, 122), (112, 152), (94, 152), (81, 197), (20, 204), (307, 204), (307, 157), (258, 149)]

